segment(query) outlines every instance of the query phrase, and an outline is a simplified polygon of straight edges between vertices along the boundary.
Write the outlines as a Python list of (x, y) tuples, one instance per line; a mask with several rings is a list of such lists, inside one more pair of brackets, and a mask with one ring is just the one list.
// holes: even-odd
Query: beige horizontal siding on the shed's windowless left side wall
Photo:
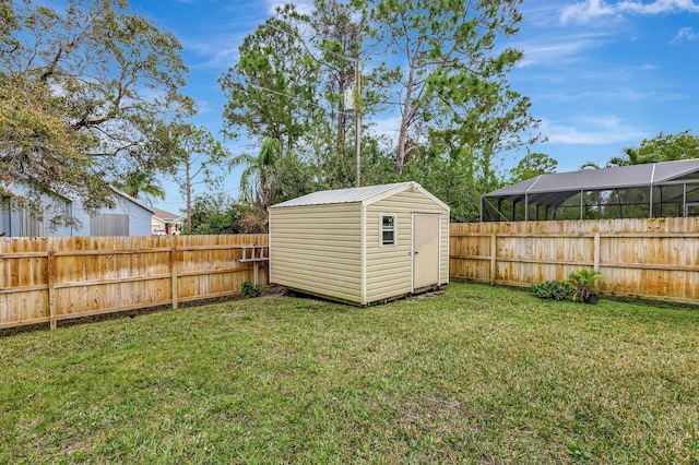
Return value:
[(362, 302), (362, 205), (270, 210), (270, 282)]

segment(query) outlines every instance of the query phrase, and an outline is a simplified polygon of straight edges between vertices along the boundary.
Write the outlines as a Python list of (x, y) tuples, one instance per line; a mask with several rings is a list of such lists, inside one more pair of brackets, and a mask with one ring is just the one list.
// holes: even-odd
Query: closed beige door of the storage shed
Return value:
[(413, 289), (439, 283), (439, 214), (413, 214)]

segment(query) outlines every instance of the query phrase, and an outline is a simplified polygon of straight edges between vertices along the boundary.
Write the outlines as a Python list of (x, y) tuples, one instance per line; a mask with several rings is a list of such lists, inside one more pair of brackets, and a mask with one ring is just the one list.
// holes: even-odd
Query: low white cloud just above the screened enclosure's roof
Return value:
[(616, 116), (580, 117), (572, 124), (542, 121), (542, 133), (552, 144), (604, 145), (639, 141), (645, 132), (624, 123)]

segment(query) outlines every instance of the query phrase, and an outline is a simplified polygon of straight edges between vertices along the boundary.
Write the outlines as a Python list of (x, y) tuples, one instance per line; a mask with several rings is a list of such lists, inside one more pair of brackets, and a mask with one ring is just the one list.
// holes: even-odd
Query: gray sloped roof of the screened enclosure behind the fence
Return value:
[(517, 184), (498, 189), (485, 194), (485, 196), (517, 199), (525, 194), (595, 191), (698, 181), (699, 159), (684, 159), (540, 175)]

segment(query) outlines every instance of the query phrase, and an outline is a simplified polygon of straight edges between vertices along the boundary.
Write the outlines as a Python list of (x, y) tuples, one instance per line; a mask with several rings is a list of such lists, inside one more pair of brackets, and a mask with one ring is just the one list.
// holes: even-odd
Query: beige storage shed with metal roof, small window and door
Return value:
[(449, 283), (449, 206), (416, 182), (270, 207), (270, 283), (366, 306)]

